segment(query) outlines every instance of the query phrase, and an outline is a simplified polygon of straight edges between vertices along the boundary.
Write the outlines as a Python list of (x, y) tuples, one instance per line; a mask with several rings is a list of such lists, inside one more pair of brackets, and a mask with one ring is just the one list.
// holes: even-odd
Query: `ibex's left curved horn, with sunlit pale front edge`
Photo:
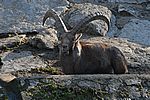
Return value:
[(65, 32), (68, 32), (68, 29), (67, 29), (65, 23), (63, 22), (63, 20), (61, 19), (61, 17), (56, 13), (56, 11), (53, 10), (53, 9), (50, 9), (50, 10), (48, 10), (48, 11), (45, 13), (44, 18), (43, 18), (43, 26), (44, 26), (44, 23), (45, 23), (46, 19), (49, 18), (49, 17), (52, 17), (52, 18), (54, 18), (56, 21), (60, 22), (60, 24), (61, 24), (61, 26), (63, 27), (64, 31), (65, 31)]

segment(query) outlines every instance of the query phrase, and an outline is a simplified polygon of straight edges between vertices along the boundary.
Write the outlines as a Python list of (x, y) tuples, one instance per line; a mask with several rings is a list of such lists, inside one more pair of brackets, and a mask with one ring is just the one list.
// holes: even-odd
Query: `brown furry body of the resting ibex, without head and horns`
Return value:
[[(81, 45), (81, 55), (73, 56), (76, 47)], [(74, 51), (61, 57), (65, 74), (124, 74), (127, 73), (127, 61), (116, 48), (100, 43), (80, 42)]]

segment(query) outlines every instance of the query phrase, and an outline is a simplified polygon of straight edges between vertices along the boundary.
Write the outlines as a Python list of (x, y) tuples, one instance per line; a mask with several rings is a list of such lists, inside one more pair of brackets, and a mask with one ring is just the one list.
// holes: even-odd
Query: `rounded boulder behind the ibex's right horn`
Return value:
[[(110, 21), (111, 11), (107, 7), (90, 3), (73, 5), (70, 9), (64, 12), (64, 14), (62, 14), (62, 18), (68, 29), (72, 29), (87, 15), (90, 15), (92, 13), (94, 14), (95, 12), (102, 13), (102, 15)], [(59, 26), (58, 23), (56, 23), (56, 26)], [(81, 32), (86, 34), (105, 36), (108, 31), (108, 27), (109, 26), (104, 20), (94, 20), (85, 25), (85, 27), (82, 28)], [(58, 29), (60, 28), (58, 27)]]

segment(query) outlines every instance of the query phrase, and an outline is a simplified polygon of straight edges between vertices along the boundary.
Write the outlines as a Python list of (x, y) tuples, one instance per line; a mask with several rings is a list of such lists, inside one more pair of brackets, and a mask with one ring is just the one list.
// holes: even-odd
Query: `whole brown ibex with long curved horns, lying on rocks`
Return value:
[(62, 18), (52, 9), (46, 12), (43, 25), (49, 17), (59, 21), (63, 28), (59, 53), (65, 74), (124, 74), (128, 72), (127, 61), (118, 48), (101, 43), (79, 41), (82, 36), (81, 28), (89, 22), (102, 19), (109, 24), (109, 20), (101, 13), (88, 15), (71, 30), (67, 29)]

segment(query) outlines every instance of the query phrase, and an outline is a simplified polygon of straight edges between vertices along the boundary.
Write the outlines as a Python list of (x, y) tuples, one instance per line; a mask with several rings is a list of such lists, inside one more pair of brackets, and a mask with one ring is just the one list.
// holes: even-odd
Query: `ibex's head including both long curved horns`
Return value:
[(46, 12), (46, 14), (43, 18), (43, 25), (44, 25), (46, 19), (49, 17), (52, 17), (56, 21), (60, 22), (60, 25), (63, 28), (63, 32), (60, 36), (60, 42), (61, 42), (60, 43), (60, 54), (61, 55), (62, 54), (68, 55), (68, 54), (70, 54), (70, 52), (72, 52), (72, 50), (74, 50), (74, 46), (76, 45), (76, 43), (78, 43), (79, 39), (82, 36), (82, 34), (80, 33), (80, 30), (87, 23), (89, 23), (93, 20), (101, 19), (101, 20), (104, 20), (107, 23), (107, 25), (109, 26), (109, 22), (110, 22), (107, 19), (107, 17), (102, 15), (100, 12), (96, 12), (96, 13), (90, 14), (87, 17), (85, 17), (84, 19), (82, 19), (79, 22), (79, 24), (77, 24), (76, 26), (73, 27), (73, 29), (68, 30), (65, 23), (63, 22), (62, 18), (53, 9), (50, 9)]

